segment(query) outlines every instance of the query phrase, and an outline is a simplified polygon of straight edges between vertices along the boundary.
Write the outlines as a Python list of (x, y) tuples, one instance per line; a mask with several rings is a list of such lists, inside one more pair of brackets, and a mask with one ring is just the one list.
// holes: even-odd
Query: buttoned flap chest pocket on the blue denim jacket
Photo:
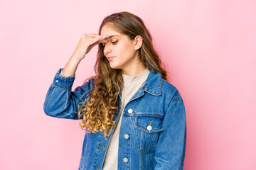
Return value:
[(134, 124), (134, 147), (141, 150), (156, 147), (156, 143), (159, 139), (159, 132), (164, 130), (161, 126), (162, 121), (162, 115), (137, 116)]

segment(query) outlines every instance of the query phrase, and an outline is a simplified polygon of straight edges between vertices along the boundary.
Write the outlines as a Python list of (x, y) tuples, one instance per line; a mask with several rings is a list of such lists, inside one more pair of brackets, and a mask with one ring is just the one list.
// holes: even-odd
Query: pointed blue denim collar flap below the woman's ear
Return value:
[(161, 95), (161, 73), (152, 68), (143, 86), (143, 91), (155, 96)]

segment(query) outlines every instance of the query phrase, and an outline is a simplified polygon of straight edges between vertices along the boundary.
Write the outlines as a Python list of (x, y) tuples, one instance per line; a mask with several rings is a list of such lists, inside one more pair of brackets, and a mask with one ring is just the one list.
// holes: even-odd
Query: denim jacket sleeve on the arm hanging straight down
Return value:
[(186, 150), (186, 114), (183, 99), (178, 91), (171, 99), (156, 145), (155, 169), (182, 170)]

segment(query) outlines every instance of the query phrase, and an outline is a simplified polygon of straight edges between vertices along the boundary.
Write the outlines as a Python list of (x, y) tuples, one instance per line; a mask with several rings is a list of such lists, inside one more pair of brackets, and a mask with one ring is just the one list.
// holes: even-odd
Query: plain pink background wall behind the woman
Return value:
[[(80, 120), (51, 118), (43, 102), (82, 33), (129, 11), (151, 31), (186, 105), (185, 170), (256, 169), (256, 1), (0, 2), (0, 169), (78, 169)], [(94, 74), (97, 47), (73, 89)]]

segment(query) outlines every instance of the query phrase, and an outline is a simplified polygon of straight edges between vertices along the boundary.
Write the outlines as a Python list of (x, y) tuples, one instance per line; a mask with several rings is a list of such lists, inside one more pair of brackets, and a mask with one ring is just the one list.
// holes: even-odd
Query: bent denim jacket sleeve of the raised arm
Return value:
[(64, 77), (60, 74), (62, 70), (63, 68), (58, 69), (53, 83), (50, 84), (43, 103), (43, 111), (46, 115), (55, 118), (78, 119), (78, 104), (81, 105), (82, 103), (80, 102), (84, 102), (85, 98), (90, 96), (90, 89), (92, 89), (93, 84), (92, 79), (71, 91), (75, 75), (73, 77)]

